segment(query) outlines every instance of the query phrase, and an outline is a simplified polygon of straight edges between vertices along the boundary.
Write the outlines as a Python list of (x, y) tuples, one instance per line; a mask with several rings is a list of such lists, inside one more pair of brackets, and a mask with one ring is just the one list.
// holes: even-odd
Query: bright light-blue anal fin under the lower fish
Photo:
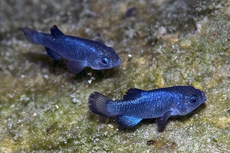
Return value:
[(137, 125), (142, 118), (136, 118), (132, 116), (117, 116), (115, 121), (118, 125), (124, 128), (131, 128)]

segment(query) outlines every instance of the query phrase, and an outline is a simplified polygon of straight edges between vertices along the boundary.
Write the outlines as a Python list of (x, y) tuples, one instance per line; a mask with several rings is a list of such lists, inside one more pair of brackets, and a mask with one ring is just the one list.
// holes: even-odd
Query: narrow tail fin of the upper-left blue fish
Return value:
[(18, 28), (22, 32), (24, 32), (26, 39), (31, 43), (31, 44), (41, 44), (41, 38), (40, 38), (40, 33), (30, 29), (30, 28)]

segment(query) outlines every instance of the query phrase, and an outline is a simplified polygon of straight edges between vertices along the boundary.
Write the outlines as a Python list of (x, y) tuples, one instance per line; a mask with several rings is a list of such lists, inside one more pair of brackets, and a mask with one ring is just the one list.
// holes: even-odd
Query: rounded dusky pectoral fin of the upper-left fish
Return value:
[(79, 73), (81, 72), (85, 67), (87, 63), (86, 62), (78, 62), (78, 61), (68, 61), (67, 67), (72, 73)]

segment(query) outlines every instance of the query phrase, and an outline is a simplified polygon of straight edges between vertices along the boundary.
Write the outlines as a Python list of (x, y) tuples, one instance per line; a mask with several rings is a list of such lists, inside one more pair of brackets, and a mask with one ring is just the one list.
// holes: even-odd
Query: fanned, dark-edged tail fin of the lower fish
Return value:
[(108, 112), (106, 104), (112, 101), (99, 92), (94, 92), (89, 96), (89, 109), (96, 114), (104, 116), (113, 116)]

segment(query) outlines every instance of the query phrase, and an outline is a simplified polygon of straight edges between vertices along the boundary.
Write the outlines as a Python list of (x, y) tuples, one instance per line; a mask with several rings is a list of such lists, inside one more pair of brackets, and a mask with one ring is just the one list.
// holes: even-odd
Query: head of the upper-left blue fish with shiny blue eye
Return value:
[(121, 59), (114, 49), (107, 46), (97, 48), (97, 52), (92, 54), (90, 59), (88, 66), (94, 70), (110, 69), (121, 64)]

